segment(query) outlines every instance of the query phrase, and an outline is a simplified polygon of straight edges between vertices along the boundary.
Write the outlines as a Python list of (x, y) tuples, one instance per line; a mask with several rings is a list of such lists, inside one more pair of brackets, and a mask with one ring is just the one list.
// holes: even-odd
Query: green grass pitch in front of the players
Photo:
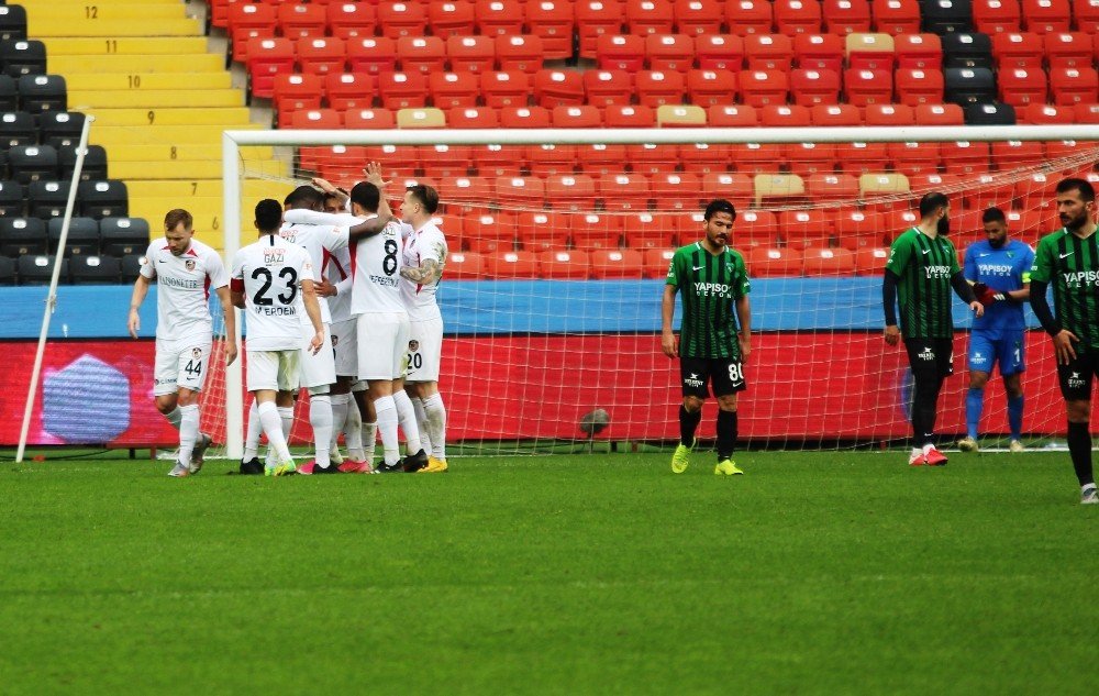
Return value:
[(1094, 693), (1066, 453), (0, 464), (0, 692)]

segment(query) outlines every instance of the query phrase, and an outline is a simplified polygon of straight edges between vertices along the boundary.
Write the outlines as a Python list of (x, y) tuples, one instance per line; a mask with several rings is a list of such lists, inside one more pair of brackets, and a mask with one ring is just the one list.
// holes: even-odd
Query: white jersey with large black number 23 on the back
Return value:
[(265, 234), (233, 257), (233, 290), (244, 292), (247, 350), (301, 347), (302, 278), (313, 278), (306, 250), (277, 234)]

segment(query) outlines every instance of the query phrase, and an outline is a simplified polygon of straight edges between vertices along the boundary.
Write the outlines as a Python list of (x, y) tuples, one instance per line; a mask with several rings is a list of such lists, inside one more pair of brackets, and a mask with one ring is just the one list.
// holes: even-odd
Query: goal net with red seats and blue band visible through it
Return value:
[[(959, 255), (984, 239), (981, 212), (992, 206), (1011, 236), (1036, 244), (1061, 227), (1056, 183), (1099, 178), (1089, 135), (1086, 126), (231, 132), (225, 252), (251, 240), (259, 198), (281, 201), (312, 177), (349, 188), (365, 163), (380, 162), (395, 207), (407, 185), (440, 194), (451, 250), (439, 291), (448, 446), (659, 444), (678, 438), (681, 398), (678, 363), (659, 345), (668, 261), (701, 239), (706, 203), (725, 198), (737, 210), (732, 245), (752, 278), (742, 439), (898, 442), (909, 435), (911, 389), (903, 351), (881, 336), (890, 242), (918, 221), (919, 198), (937, 190), (950, 197)], [(273, 176), (279, 167), (249, 155), (271, 146), (265, 152), (288, 175)], [(959, 300), (955, 310), (955, 374), (937, 422), (944, 439), (965, 431), (970, 319)], [(1063, 438), (1063, 406), (1048, 339), (1026, 312), (1024, 431), (1035, 445), (1052, 444)], [(221, 386), (204, 409), (208, 421), (229, 415), (231, 455), (244, 407), (233, 398), (240, 374), (230, 371), (227, 383), (212, 375)], [(703, 439), (713, 437), (713, 408)], [(296, 440), (308, 441), (301, 402), (298, 413)], [(1007, 429), (993, 376), (980, 431), (995, 439)]]

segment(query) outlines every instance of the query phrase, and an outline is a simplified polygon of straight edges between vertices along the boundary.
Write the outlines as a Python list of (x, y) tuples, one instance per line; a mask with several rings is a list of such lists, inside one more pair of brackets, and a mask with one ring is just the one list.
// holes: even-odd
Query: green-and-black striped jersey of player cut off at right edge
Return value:
[(1037, 243), (1031, 280), (1053, 286), (1053, 307), (1062, 328), (1076, 334), (1087, 352), (1099, 351), (1099, 233), (1080, 239), (1062, 228)]

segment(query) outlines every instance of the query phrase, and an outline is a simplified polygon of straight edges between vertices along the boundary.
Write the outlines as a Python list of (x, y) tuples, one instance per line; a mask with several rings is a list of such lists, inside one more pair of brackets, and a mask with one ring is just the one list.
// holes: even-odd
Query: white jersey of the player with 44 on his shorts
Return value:
[(187, 251), (176, 256), (165, 240), (157, 240), (148, 245), (140, 273), (157, 284), (157, 340), (211, 340), (210, 288), (229, 285), (218, 252), (191, 239)]

